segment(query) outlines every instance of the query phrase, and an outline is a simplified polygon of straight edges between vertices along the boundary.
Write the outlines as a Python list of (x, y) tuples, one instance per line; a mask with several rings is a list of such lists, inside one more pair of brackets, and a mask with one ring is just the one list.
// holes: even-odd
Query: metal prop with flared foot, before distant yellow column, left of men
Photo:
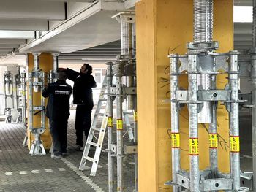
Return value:
[[(31, 145), (29, 154), (31, 155), (45, 155), (45, 148), (40, 140), (41, 134), (45, 131), (45, 98), (41, 96), (41, 104), (34, 106), (33, 95), (37, 92), (42, 92), (45, 86), (45, 73), (39, 69), (39, 53), (33, 53), (34, 55), (34, 68), (32, 72), (29, 72), (29, 129), (34, 134), (34, 141)], [(42, 93), (40, 94), (42, 95)], [(34, 115), (41, 113), (41, 126), (34, 127), (33, 119)]]

